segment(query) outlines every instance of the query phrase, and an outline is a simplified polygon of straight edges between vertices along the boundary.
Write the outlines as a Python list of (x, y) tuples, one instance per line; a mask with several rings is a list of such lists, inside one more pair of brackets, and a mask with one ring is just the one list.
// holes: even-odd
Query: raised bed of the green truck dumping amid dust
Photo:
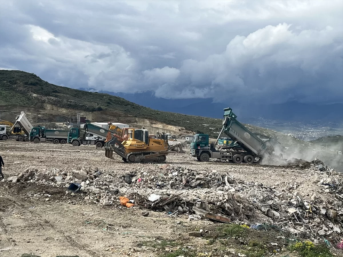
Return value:
[(223, 132), (228, 137), (236, 139), (237, 143), (246, 151), (261, 156), (267, 150), (267, 145), (236, 120), (237, 116), (232, 112), (231, 108), (226, 108), (224, 111)]

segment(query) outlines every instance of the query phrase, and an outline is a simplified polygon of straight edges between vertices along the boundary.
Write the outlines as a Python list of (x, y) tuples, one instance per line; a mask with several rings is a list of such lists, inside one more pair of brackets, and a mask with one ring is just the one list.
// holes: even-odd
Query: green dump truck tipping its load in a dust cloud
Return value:
[[(191, 155), (196, 157), (198, 161), (209, 161), (210, 158), (216, 158), (230, 160), (234, 163), (253, 163), (254, 161), (261, 161), (262, 158), (271, 158), (274, 152), (272, 144), (263, 142), (236, 118), (237, 116), (231, 108), (224, 109), (223, 128), (215, 144), (209, 144), (209, 135), (196, 134), (191, 143)], [(215, 146), (222, 133), (235, 140), (238, 147), (233, 145), (216, 150)]]

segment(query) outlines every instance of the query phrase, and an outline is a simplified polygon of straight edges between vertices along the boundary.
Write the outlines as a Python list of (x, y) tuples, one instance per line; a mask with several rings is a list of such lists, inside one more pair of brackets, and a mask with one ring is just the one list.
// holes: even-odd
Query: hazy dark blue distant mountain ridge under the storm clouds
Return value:
[[(83, 88), (82, 90), (92, 89)], [(231, 107), (242, 122), (252, 122), (256, 117), (282, 122), (310, 122), (314, 120), (335, 123), (343, 122), (343, 103), (317, 105), (315, 103), (308, 104), (293, 101), (273, 105), (252, 105), (250, 103), (243, 106), (232, 106), (229, 100), (227, 103), (216, 103), (213, 102), (212, 98), (164, 99), (155, 97), (151, 92), (125, 94), (100, 91), (99, 93), (122, 97), (139, 105), (160, 111), (178, 112), (188, 115), (200, 114), (216, 119), (223, 117), (224, 108)]]

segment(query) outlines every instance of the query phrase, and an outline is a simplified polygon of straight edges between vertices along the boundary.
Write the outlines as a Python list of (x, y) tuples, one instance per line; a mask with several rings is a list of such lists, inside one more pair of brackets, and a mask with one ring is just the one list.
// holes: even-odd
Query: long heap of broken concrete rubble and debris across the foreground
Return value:
[(169, 164), (151, 170), (132, 169), (130, 173), (117, 171), (115, 175), (96, 167), (68, 172), (27, 169), (8, 181), (57, 187), (68, 187), (75, 182), (81, 185), (88, 204), (120, 206), (119, 196), (126, 196), (136, 207), (167, 215), (185, 213), (189, 219), (209, 218), (249, 225), (268, 223), (299, 237), (337, 241), (343, 229), (343, 178), (318, 160), (308, 163), (305, 164), (310, 172), (316, 174), (311, 184), (316, 185), (317, 193), (312, 195), (296, 191), (296, 182), (277, 188), (238, 180), (216, 170)]

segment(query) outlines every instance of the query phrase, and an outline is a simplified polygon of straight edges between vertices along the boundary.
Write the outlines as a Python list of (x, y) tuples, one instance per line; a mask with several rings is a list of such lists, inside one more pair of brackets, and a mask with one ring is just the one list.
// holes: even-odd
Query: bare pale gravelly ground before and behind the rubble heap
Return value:
[[(311, 183), (316, 173), (296, 167), (232, 164), (225, 162), (197, 162), (186, 154), (167, 156), (166, 163), (197, 170), (228, 172), (244, 181), (267, 186), (299, 184), (297, 191), (311, 196), (316, 186)], [(72, 147), (49, 143), (0, 141), (0, 154), (5, 162), (5, 178), (26, 169), (39, 171), (77, 167), (98, 167), (105, 173), (158, 170), (161, 164), (128, 164), (121, 158), (108, 159), (104, 149), (94, 146)], [(37, 193), (50, 195), (49, 200), (35, 197)], [(139, 208), (73, 204), (64, 199), (64, 188), (28, 183), (0, 182), (0, 256), (156, 256), (154, 249), (141, 247), (149, 240), (185, 238), (188, 245), (197, 245), (199, 239), (188, 237), (191, 227), (212, 224), (206, 220), (189, 221), (187, 215), (164, 217), (166, 213), (150, 212), (143, 217)], [(78, 196), (74, 196), (77, 198)], [(323, 196), (325, 197), (325, 196)], [(180, 221), (180, 222), (179, 222)], [(158, 228), (158, 229), (156, 229)]]

